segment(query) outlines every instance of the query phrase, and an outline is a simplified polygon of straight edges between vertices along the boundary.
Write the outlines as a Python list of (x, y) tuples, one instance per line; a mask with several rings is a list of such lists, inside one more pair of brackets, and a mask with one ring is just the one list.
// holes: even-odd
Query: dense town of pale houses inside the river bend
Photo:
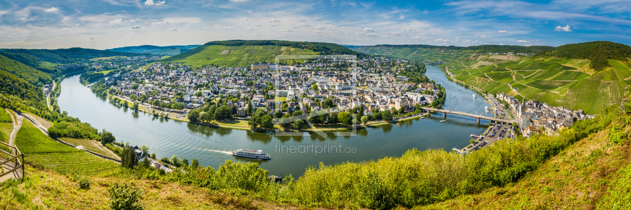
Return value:
[(360, 115), (383, 111), (396, 115), (420, 112), (418, 106), (444, 102), (444, 91), (441, 93), (440, 85), (424, 76), (424, 71), (423, 64), (384, 57), (249, 67), (155, 62), (103, 81), (110, 94), (138, 100), (146, 108), (180, 110), (183, 115), (178, 117), (216, 102), (244, 119), (257, 109), (292, 115), (295, 111), (307, 114), (332, 107), (329, 112), (362, 107)]

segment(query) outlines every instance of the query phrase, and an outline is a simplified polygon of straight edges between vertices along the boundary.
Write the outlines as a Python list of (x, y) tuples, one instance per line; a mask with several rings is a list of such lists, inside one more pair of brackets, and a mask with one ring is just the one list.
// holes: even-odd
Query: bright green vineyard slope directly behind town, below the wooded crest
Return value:
[[(224, 46), (203, 45), (188, 52), (174, 55), (160, 62), (184, 62), (187, 65), (202, 66), (215, 64), (217, 66), (250, 66), (254, 63), (275, 61), (276, 55), (315, 55), (312, 50), (282, 47), (276, 45), (247, 45)], [(281, 63), (295, 64), (304, 62), (303, 59), (281, 60)]]

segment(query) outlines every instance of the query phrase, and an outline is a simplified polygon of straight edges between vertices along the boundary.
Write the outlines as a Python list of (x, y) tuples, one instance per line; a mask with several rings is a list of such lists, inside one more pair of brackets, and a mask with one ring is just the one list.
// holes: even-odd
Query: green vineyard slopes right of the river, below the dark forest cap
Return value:
[[(610, 59), (612, 67), (593, 74), (585, 59), (490, 59), (463, 50), (396, 46), (358, 47), (353, 50), (411, 60), (442, 61), (456, 79), (489, 93), (507, 93), (519, 100), (539, 100), (588, 114), (598, 114), (620, 103), (625, 85), (631, 85), (628, 61)], [(492, 64), (490, 64), (492, 63)], [(483, 64), (488, 64), (487, 66)], [(514, 79), (511, 74), (514, 74)], [(512, 90), (517, 88), (517, 91)], [(570, 93), (567, 93), (569, 91)]]

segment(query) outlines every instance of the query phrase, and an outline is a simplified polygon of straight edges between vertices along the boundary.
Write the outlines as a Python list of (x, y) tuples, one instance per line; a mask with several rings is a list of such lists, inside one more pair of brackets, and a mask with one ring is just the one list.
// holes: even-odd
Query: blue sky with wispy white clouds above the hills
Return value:
[(274, 39), (350, 45), (631, 45), (631, 0), (0, 0), (0, 47)]

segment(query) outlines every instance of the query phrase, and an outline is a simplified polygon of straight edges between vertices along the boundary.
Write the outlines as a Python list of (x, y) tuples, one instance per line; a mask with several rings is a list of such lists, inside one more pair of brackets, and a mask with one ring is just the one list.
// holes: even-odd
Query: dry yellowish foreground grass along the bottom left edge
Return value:
[(90, 177), (90, 182), (90, 189), (80, 189), (67, 176), (28, 167), (23, 182), (0, 184), (0, 209), (110, 209), (107, 190), (124, 182), (144, 191), (144, 209), (295, 209), (176, 183), (134, 180), (120, 171), (108, 177)]

